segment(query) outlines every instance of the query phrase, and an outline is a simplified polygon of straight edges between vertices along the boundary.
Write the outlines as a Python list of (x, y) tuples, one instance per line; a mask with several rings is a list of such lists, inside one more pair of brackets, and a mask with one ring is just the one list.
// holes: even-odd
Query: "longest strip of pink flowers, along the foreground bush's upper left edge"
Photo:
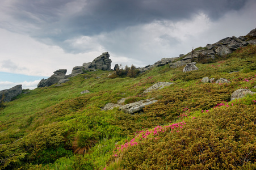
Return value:
[[(156, 128), (154, 128), (152, 130), (145, 130), (145, 131), (142, 130), (142, 131), (139, 131), (139, 133), (136, 131), (135, 134), (137, 134), (137, 135), (135, 138), (131, 139), (131, 141), (129, 141), (127, 143), (124, 143), (124, 145), (120, 145), (115, 148), (114, 156), (118, 156), (120, 154), (120, 152), (122, 152), (125, 148), (138, 145), (139, 141), (145, 140), (148, 137), (150, 137), (150, 139), (152, 139), (155, 135), (159, 135), (160, 133), (163, 133), (168, 129), (170, 129), (171, 133), (173, 133), (174, 131), (179, 132), (178, 129), (182, 129), (184, 125), (186, 125), (186, 123), (183, 121), (183, 122), (179, 122), (179, 123), (167, 125), (167, 126), (157, 126)], [(157, 140), (156, 137), (154, 137), (154, 139)]]

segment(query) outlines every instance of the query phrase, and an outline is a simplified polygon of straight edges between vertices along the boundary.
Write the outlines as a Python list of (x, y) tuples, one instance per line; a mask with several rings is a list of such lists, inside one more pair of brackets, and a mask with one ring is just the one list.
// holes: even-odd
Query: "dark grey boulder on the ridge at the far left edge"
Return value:
[(0, 102), (11, 101), (14, 97), (22, 93), (22, 85), (16, 85), (9, 90), (0, 91)]

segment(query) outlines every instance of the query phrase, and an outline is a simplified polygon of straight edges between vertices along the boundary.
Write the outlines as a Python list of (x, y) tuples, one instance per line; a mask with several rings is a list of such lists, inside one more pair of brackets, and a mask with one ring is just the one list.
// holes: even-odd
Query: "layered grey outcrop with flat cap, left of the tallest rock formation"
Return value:
[(37, 87), (48, 87), (52, 86), (52, 84), (58, 83), (61, 79), (64, 79), (66, 75), (66, 69), (60, 69), (53, 72), (53, 75), (48, 79), (41, 79), (41, 81), (37, 84)]

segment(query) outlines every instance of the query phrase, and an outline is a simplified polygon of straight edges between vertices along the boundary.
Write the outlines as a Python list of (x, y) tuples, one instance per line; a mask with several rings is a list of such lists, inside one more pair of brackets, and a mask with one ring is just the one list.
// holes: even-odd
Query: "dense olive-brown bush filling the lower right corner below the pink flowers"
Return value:
[[(255, 169), (256, 106), (213, 109), (124, 151), (127, 169)], [(150, 154), (149, 154), (150, 153)]]

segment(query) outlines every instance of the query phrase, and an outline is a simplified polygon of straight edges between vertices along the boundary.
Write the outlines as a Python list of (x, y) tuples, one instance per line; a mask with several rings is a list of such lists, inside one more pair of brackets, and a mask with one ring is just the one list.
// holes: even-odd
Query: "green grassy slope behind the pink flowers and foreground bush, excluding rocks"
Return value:
[[(1, 168), (125, 169), (125, 166), (130, 165), (124, 165), (123, 160), (125, 162), (128, 158), (115, 158), (112, 156), (113, 151), (116, 145), (131, 140), (136, 131), (190, 121), (193, 117), (200, 117), (201, 120), (201, 117), (208, 115), (206, 110), (209, 113), (216, 112), (213, 108), (219, 103), (247, 105), (247, 109), (253, 106), (255, 95), (231, 102), (230, 95), (238, 88), (256, 92), (253, 88), (256, 86), (255, 49), (255, 45), (249, 45), (216, 63), (198, 63), (196, 66), (199, 70), (187, 73), (182, 72), (183, 67), (170, 69), (166, 65), (154, 67), (137, 78), (110, 79), (107, 76), (112, 71), (98, 70), (74, 76), (60, 87), (53, 85), (28, 90), (26, 94), (5, 103), (5, 107), (0, 110), (0, 159), (9, 160), (1, 164)], [(238, 72), (230, 73), (233, 71)], [(95, 79), (96, 76), (100, 78)], [(201, 79), (204, 76), (215, 80), (226, 78), (231, 83), (203, 84)], [(141, 95), (157, 82), (174, 84)], [(80, 92), (84, 90), (90, 93), (81, 95)], [(152, 97), (156, 97), (158, 102), (146, 106), (144, 112), (133, 115), (118, 109), (101, 111), (107, 103), (116, 103), (124, 97), (127, 98), (125, 103)], [(183, 114), (187, 116), (181, 119)], [(48, 135), (50, 129), (56, 130), (54, 133), (58, 138), (53, 135), (52, 140), (48, 141), (43, 137)], [(45, 135), (41, 135), (41, 141), (36, 141), (39, 134), (43, 133)], [(75, 140), (88, 144), (85, 145), (87, 150), (84, 157), (69, 155), (73, 152)], [(151, 144), (149, 147), (152, 147)], [(52, 154), (48, 160), (49, 153)], [(77, 167), (74, 167), (76, 164)]]

